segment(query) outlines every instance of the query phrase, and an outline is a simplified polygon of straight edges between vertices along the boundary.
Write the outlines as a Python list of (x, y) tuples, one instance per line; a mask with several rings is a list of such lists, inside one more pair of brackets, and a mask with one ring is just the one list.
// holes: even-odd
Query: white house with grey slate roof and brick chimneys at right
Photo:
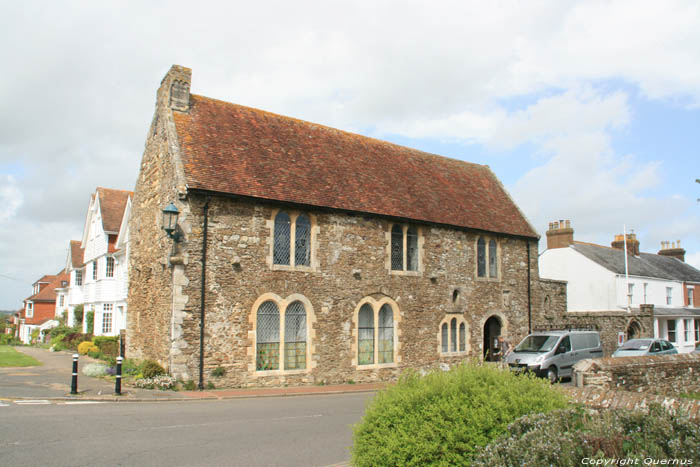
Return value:
[[(627, 255), (625, 255), (625, 246)], [(569, 221), (553, 222), (540, 276), (567, 281), (569, 312), (638, 310), (654, 305), (654, 337), (668, 339), (681, 353), (700, 342), (700, 271), (684, 262), (685, 251), (667, 242), (658, 254), (639, 251), (635, 234), (617, 235), (610, 247), (574, 241)], [(625, 256), (627, 266), (625, 267)]]

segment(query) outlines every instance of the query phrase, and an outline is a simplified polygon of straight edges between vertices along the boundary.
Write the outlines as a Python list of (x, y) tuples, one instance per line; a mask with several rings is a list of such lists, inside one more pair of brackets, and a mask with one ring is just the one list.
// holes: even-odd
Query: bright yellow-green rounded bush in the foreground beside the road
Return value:
[(407, 372), (354, 427), (353, 465), (465, 465), (517, 418), (567, 405), (546, 381), (492, 366)]

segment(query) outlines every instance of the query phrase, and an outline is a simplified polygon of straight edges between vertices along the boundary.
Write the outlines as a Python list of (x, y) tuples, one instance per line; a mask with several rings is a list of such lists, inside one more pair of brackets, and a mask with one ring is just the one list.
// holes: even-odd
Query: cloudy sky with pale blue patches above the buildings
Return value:
[(696, 1), (0, 0), (0, 309), (61, 270), (97, 186), (133, 190), (156, 90), (486, 164), (542, 239), (700, 267)]

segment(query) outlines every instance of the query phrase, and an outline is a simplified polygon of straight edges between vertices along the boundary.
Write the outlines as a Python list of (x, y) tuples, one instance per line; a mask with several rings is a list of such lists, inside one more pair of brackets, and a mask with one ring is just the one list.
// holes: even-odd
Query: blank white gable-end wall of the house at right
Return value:
[(540, 277), (565, 280), (568, 311), (609, 311), (618, 308), (615, 274), (572, 248), (544, 251)]

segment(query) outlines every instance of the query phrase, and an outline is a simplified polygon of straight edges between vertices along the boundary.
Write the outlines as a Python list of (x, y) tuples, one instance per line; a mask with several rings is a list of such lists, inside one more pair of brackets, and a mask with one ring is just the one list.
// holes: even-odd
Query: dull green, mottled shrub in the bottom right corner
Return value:
[(700, 425), (659, 405), (648, 413), (557, 410), (522, 417), (508, 430), (509, 435), (483, 448), (472, 466), (564, 467), (581, 465), (583, 459), (630, 459), (627, 465), (649, 465), (648, 459), (700, 462)]

